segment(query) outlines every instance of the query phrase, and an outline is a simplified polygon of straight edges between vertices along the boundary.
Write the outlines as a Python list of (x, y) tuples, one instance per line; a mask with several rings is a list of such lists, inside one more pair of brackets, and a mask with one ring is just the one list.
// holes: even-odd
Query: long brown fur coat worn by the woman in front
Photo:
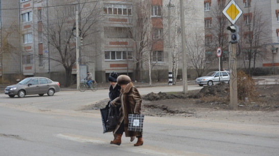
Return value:
[(128, 131), (128, 115), (129, 114), (141, 114), (142, 113), (142, 97), (139, 94), (133, 83), (130, 82), (124, 90), (120, 90), (120, 97), (111, 101), (114, 105), (121, 105), (119, 123), (115, 130), (119, 128), (121, 122), (124, 122), (125, 136), (126, 137), (136, 137), (143, 135), (143, 132), (138, 131)]

